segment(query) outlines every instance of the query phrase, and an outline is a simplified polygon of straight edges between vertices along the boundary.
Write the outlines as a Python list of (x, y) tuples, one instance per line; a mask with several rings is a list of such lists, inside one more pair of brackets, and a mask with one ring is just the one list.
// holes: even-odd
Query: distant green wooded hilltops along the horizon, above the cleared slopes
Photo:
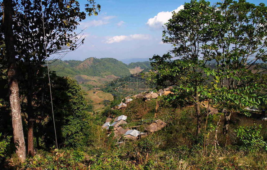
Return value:
[[(150, 69), (150, 62), (135, 62), (129, 65), (114, 58), (94, 58), (90, 57), (84, 61), (80, 60), (56, 60), (49, 65), (50, 69), (57, 72), (59, 76), (77, 75), (97, 76), (107, 78), (107, 76), (125, 77), (131, 72), (138, 73), (144, 69)], [(134, 71), (133, 71), (134, 70)]]

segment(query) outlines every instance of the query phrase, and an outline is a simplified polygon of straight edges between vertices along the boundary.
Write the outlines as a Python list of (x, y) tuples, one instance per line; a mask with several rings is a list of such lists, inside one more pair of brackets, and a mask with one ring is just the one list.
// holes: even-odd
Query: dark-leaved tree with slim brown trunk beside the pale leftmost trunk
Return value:
[[(36, 87), (35, 82), (44, 65), (46, 51), (49, 57), (79, 47), (84, 39), (79, 38), (80, 33), (76, 33), (75, 29), (79, 22), (85, 19), (86, 13), (80, 10), (78, 1), (51, 0), (42, 1), (42, 5), (39, 0), (15, 0), (12, 3), (14, 11), (16, 11), (13, 13), (14, 26), (12, 29), (14, 46), (17, 51), (15, 56), (21, 69), (20, 78), (25, 82), (27, 88), (25, 112), (28, 122), (28, 154), (33, 156), (33, 126), (38, 114), (33, 100), (40, 88)], [(85, 11), (89, 16), (97, 15), (99, 10), (100, 5), (93, 0), (88, 0)], [(3, 17), (1, 22), (2, 19)], [(44, 34), (46, 38), (44, 38)]]

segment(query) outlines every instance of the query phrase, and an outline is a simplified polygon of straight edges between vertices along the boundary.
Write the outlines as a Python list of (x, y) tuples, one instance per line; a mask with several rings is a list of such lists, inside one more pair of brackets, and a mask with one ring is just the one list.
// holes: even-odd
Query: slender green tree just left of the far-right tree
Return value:
[[(162, 39), (164, 43), (170, 43), (174, 46), (171, 52), (174, 57), (179, 57), (180, 60), (170, 61), (173, 58), (170, 55), (152, 58), (156, 61), (152, 64), (154, 68), (155, 65), (159, 64), (168, 67), (165, 72), (161, 70), (165, 75), (161, 81), (163, 84), (160, 83), (159, 85), (165, 86), (164, 82), (178, 81), (176, 85), (191, 92), (197, 114), (196, 136), (201, 129), (199, 97), (200, 92), (203, 91), (204, 81), (201, 67), (204, 65), (205, 57), (209, 54), (209, 50), (201, 47), (210, 43), (208, 30), (213, 11), (215, 9), (204, 0), (199, 2), (192, 0), (190, 3), (185, 3), (184, 9), (178, 13), (173, 13), (172, 18), (165, 24)], [(169, 61), (166, 62), (166, 60)]]

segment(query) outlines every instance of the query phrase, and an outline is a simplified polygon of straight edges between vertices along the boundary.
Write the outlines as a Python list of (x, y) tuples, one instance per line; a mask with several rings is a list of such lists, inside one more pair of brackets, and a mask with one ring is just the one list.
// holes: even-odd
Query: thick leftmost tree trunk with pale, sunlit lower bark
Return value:
[(26, 146), (23, 134), (21, 109), (20, 109), (20, 97), (19, 86), (17, 80), (17, 66), (16, 66), (16, 52), (14, 46), (13, 37), (13, 8), (11, 0), (4, 0), (4, 17), (3, 17), (3, 29), (5, 35), (6, 56), (8, 60), (8, 88), (9, 88), (9, 100), (11, 107), (12, 127), (14, 143), (16, 143), (16, 154), (21, 162), (26, 159)]

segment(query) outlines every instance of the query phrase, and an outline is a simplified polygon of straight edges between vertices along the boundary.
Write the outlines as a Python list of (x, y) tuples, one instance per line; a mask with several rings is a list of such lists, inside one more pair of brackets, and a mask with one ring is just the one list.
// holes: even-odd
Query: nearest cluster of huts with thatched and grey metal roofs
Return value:
[(141, 137), (147, 136), (147, 132), (156, 132), (166, 126), (165, 122), (156, 120), (154, 123), (150, 124), (147, 127), (147, 132), (139, 132), (135, 129), (124, 129), (123, 127), (121, 127), (121, 125), (127, 124), (127, 122), (125, 121), (127, 119), (127, 116), (125, 115), (116, 117), (113, 123), (111, 123), (112, 119), (112, 116), (107, 117), (106, 123), (102, 125), (102, 129), (107, 129), (110, 131), (114, 130), (114, 137), (124, 136), (125, 138), (131, 140), (136, 140)]

